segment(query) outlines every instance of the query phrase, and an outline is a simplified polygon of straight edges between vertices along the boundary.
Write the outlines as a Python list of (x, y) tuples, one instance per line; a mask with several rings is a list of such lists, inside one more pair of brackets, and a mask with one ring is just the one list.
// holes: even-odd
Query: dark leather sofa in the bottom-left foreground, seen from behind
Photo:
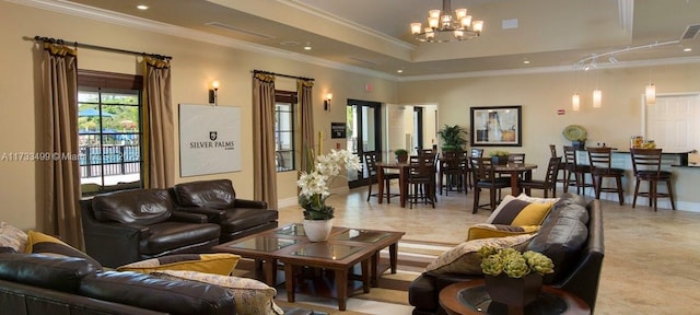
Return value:
[(0, 254), (0, 315), (235, 314), (225, 289), (136, 272), (97, 270), (88, 260)]

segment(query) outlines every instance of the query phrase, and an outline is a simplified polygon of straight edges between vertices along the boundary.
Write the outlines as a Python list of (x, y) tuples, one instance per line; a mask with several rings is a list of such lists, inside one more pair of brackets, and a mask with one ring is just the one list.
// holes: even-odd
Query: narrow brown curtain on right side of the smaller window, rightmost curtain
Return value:
[[(313, 88), (314, 82), (311, 80), (296, 80), (296, 92), (299, 93), (299, 106), (302, 116), (302, 163), (299, 168), (302, 172), (308, 172), (311, 166), (307, 162), (312, 161), (311, 150), (314, 149), (314, 113), (313, 113)], [(323, 152), (317, 152), (322, 154)]]

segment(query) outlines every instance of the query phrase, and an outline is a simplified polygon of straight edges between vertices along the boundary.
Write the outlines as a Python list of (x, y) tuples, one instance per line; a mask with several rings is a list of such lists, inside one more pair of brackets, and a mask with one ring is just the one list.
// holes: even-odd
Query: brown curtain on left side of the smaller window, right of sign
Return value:
[(253, 74), (253, 175), (256, 200), (277, 209), (275, 166), (275, 75)]

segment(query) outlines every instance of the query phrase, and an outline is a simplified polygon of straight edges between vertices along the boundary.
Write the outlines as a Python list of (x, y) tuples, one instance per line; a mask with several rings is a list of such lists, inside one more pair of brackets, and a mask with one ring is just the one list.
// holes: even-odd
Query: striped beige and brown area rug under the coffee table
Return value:
[[(371, 315), (371, 314), (411, 314), (412, 306), (408, 304), (408, 287), (420, 273), (425, 266), (434, 260), (445, 250), (454, 247), (455, 244), (439, 244), (420, 241), (399, 241), (398, 243), (398, 264), (397, 272), (390, 273), (386, 270), (378, 280), (378, 288), (372, 288), (370, 293), (363, 293), (361, 285), (355, 287), (351, 291), (347, 302), (347, 311), (338, 311), (337, 300), (332, 298), (323, 298), (315, 294), (296, 293), (295, 302), (287, 302), (287, 292), (284, 284), (278, 285), (276, 302), (279, 305), (290, 307), (311, 308), (328, 314), (346, 314), (346, 315)], [(380, 265), (388, 266), (389, 253), (388, 248), (380, 253)], [(247, 265), (247, 267), (246, 267)], [(245, 277), (252, 276), (248, 269), (252, 264), (243, 264), (236, 269), (237, 272), (246, 273)]]

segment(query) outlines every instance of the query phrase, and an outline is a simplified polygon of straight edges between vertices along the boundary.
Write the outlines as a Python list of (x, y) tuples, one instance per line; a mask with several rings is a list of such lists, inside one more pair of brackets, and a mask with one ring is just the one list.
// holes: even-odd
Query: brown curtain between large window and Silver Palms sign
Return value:
[(175, 124), (171, 92), (170, 61), (144, 56), (144, 115), (145, 133), (144, 185), (167, 188), (175, 184)]

